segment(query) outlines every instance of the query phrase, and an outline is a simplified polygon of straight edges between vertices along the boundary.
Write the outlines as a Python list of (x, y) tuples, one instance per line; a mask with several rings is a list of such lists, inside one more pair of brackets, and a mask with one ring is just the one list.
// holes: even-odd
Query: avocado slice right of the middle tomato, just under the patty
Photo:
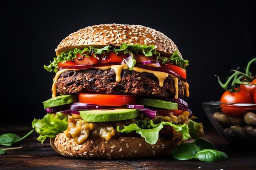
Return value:
[(150, 98), (140, 98), (137, 104), (151, 106), (155, 108), (164, 108), (168, 110), (177, 110), (178, 104), (173, 102), (168, 102), (166, 100), (150, 99)]

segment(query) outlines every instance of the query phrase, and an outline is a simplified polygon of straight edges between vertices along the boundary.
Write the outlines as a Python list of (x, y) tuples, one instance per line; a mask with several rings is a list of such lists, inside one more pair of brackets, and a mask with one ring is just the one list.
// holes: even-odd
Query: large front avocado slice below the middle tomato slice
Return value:
[(80, 110), (79, 112), (83, 120), (90, 122), (127, 120), (139, 116), (139, 110), (130, 108), (117, 108), (113, 110)]

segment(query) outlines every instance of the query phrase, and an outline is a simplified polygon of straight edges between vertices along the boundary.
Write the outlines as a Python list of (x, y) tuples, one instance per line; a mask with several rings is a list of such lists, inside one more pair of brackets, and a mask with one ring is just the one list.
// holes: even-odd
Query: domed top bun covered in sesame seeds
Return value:
[(59, 55), (63, 51), (69, 52), (75, 48), (101, 47), (109, 44), (120, 46), (124, 42), (154, 45), (156, 51), (164, 55), (172, 55), (178, 50), (170, 38), (155, 29), (141, 25), (100, 24), (71, 33), (61, 41), (55, 51), (56, 55)]

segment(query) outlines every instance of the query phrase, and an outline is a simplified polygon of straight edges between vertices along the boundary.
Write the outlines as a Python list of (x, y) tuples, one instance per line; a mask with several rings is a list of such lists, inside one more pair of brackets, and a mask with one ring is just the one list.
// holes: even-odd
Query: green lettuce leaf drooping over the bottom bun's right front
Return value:
[(159, 131), (164, 126), (172, 126), (175, 128), (176, 131), (181, 132), (183, 135), (183, 140), (189, 139), (189, 127), (186, 124), (182, 125), (175, 125), (171, 122), (162, 121), (159, 124), (153, 124), (153, 121), (145, 121), (145, 120), (138, 120), (136, 124), (130, 124), (129, 126), (124, 126), (124, 129), (121, 129), (120, 126), (117, 127), (118, 132), (136, 132), (141, 135), (145, 139), (148, 144), (156, 144), (159, 138)]

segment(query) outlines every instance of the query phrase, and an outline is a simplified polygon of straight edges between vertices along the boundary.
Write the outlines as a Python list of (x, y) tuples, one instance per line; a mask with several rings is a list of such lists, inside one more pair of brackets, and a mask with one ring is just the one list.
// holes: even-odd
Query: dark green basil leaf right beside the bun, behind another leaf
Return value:
[(173, 150), (173, 158), (178, 160), (193, 159), (199, 151), (198, 146), (193, 143), (178, 145)]

